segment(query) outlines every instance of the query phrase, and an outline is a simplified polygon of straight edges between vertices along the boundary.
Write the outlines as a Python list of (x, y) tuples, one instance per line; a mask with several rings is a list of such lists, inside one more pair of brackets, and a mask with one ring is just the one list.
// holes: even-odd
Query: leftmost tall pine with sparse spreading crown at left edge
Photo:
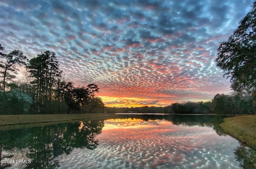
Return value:
[[(2, 46), (0, 46), (2, 49)], [(5, 92), (6, 87), (6, 80), (11, 80), (15, 78), (15, 76), (11, 73), (17, 74), (17, 71), (19, 70), (16, 68), (15, 65), (25, 65), (26, 66), (26, 56), (23, 55), (22, 51), (20, 50), (14, 50), (10, 52), (9, 54), (1, 54), (1, 58), (4, 58), (4, 61), (0, 61), (0, 67), (3, 69), (0, 71), (0, 74), (2, 74), (3, 80), (3, 92)]]

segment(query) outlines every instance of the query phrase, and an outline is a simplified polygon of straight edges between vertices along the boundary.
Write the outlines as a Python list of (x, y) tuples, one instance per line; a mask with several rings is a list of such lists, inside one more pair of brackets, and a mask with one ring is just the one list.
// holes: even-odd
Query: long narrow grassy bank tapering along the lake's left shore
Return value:
[(109, 119), (119, 117), (114, 113), (95, 114), (36, 114), (36, 115), (0, 115), (0, 129), (16, 128), (17, 126), (38, 126), (66, 123), (79, 120)]

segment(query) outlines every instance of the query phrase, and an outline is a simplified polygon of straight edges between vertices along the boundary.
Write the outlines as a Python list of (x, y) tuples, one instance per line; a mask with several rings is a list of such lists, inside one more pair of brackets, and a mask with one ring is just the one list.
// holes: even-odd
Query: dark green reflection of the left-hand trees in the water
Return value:
[[(68, 155), (74, 148), (95, 149), (95, 136), (103, 127), (104, 120), (90, 120), (0, 131), (0, 159), (14, 159), (14, 153), (25, 152), (19, 159), (31, 160), (24, 166), (26, 169), (54, 169), (59, 166), (58, 155)], [(10, 164), (0, 165), (0, 169), (6, 167)]]

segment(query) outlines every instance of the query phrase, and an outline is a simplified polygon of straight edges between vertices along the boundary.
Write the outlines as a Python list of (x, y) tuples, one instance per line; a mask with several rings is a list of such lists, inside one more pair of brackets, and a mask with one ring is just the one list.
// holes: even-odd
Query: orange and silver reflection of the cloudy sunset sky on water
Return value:
[(217, 135), (212, 127), (109, 119), (96, 139), (96, 149), (75, 149), (62, 157), (61, 168), (240, 168), (233, 153), (238, 141)]

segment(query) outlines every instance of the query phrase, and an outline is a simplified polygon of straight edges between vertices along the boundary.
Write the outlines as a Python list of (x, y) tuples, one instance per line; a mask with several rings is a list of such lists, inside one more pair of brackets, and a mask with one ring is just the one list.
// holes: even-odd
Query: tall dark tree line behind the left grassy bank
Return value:
[[(0, 50), (4, 47), (0, 44)], [(99, 113), (104, 103), (96, 84), (74, 87), (62, 78), (55, 52), (44, 51), (30, 60), (20, 50), (0, 52), (0, 114), (26, 113)], [(26, 68), (26, 80), (17, 80), (19, 69)], [(15, 81), (16, 79), (16, 81)]]

